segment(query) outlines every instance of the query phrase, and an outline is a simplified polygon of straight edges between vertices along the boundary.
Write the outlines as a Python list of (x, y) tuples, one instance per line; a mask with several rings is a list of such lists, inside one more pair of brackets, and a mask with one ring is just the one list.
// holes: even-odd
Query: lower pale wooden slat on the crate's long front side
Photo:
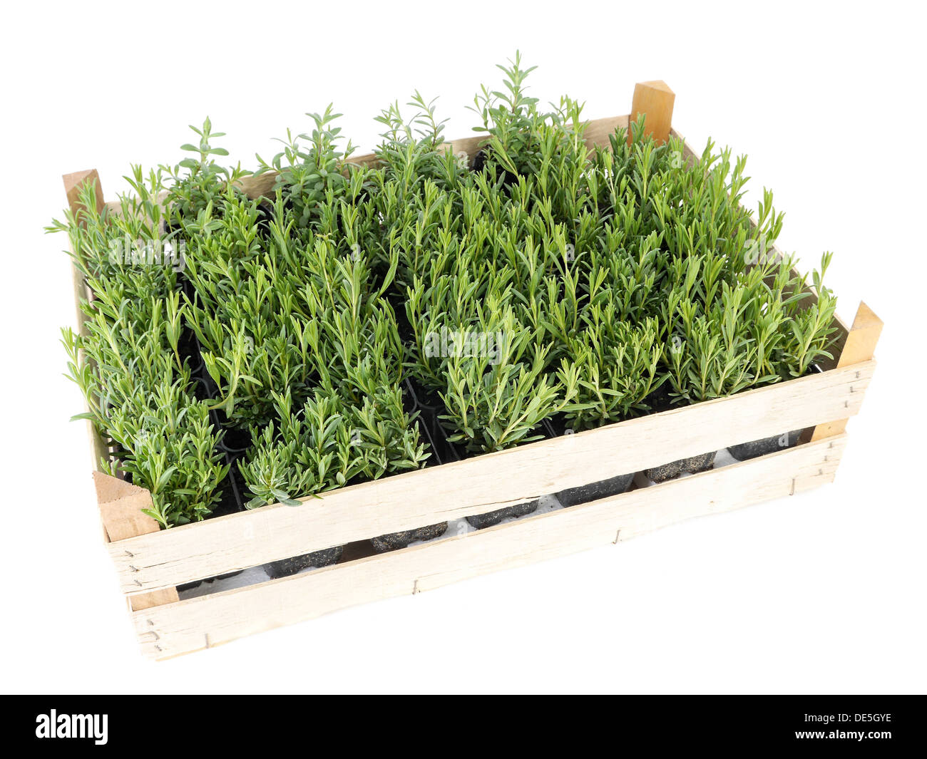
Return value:
[(845, 436), (836, 436), (571, 509), (159, 606), (133, 614), (133, 624), (148, 656), (166, 659), (198, 651), (359, 603), (438, 588), (818, 487), (832, 481), (844, 445)]

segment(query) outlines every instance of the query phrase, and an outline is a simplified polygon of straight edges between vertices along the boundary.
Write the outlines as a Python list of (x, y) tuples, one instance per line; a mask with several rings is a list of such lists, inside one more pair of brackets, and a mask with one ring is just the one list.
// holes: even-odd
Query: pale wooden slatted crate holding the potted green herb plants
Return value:
[[(663, 82), (635, 89), (629, 116), (591, 121), (590, 144), (607, 144), (616, 127), (644, 112), (648, 131), (669, 126), (673, 95)], [(662, 132), (661, 132), (662, 130)], [(476, 154), (480, 136), (454, 141)], [(689, 145), (686, 158), (697, 160)], [(370, 162), (373, 156), (360, 158)], [(65, 176), (72, 206), (95, 171)], [(249, 196), (273, 176), (248, 178)], [(778, 252), (777, 252), (778, 254)], [(86, 297), (75, 273), (75, 293)], [(83, 328), (83, 313), (79, 310)], [(683, 519), (726, 512), (832, 482), (846, 445), (844, 426), (859, 411), (882, 323), (865, 304), (847, 328), (837, 320), (835, 358), (814, 375), (686, 408), (610, 424), (386, 479), (343, 487), (294, 508), (281, 504), (159, 530), (139, 510), (147, 490), (99, 471), (104, 442), (88, 423), (104, 537), (143, 651), (164, 659), (210, 648), (357, 603), (438, 588), (466, 577), (617, 543)], [(800, 445), (651, 487), (370, 555), (362, 541), (386, 533), (489, 512), (524, 500), (805, 428)], [(637, 484), (641, 485), (641, 475)], [(176, 587), (349, 545), (341, 563), (210, 595), (179, 599)], [(353, 550), (352, 550), (353, 549)]]

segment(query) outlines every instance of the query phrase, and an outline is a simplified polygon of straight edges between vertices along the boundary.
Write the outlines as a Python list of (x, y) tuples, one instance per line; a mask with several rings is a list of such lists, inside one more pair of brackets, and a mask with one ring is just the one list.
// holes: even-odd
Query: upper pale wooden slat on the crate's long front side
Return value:
[[(431, 525), (855, 413), (874, 363), (112, 543), (126, 593)], [(859, 373), (859, 377), (857, 377)], [(855, 388), (850, 392), (850, 387)], [(125, 551), (133, 554), (132, 561)], [(130, 564), (132, 565), (130, 567)]]

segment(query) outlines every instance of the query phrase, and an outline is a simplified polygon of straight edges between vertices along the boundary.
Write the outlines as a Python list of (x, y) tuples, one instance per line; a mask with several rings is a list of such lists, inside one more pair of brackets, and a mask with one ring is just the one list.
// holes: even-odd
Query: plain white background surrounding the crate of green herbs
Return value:
[[(203, 4), (206, 6), (206, 4)], [(2, 689), (52, 692), (925, 689), (921, 8), (914, 3), (24, 3), (6, 18)], [(61, 174), (181, 158), (209, 115), (233, 159), (329, 101), (366, 152), (414, 88), (448, 135), (520, 47), (533, 94), (589, 118), (664, 79), (674, 125), (747, 152), (781, 247), (886, 324), (836, 483), (619, 547), (375, 603), (160, 664), (138, 654), (100, 540)]]

